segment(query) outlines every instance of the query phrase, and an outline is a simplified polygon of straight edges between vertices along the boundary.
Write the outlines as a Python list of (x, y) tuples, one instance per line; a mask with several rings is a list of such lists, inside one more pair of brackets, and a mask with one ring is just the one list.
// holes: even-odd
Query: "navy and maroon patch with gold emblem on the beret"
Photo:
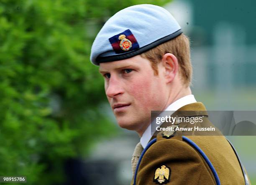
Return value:
[(131, 30), (125, 30), (109, 38), (109, 41), (116, 54), (133, 51), (139, 48), (138, 42), (133, 33), (131, 33)]

